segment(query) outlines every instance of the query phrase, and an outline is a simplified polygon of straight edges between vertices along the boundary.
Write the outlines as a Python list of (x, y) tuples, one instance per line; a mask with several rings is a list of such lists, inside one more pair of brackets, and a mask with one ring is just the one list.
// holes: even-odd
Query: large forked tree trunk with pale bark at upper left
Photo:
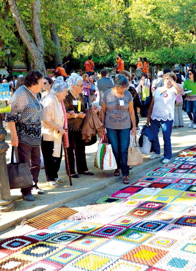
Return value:
[(31, 54), (31, 67), (32, 69), (37, 69), (43, 73), (44, 76), (47, 75), (46, 67), (44, 64), (44, 42), (40, 28), (40, 0), (34, 0), (32, 5), (32, 30), (34, 35), (34, 40), (29, 36), (26, 27), (24, 25), (23, 19), (21, 18), (16, 0), (8, 0), (12, 15), (15, 20), (18, 32), (21, 39), (26, 44), (28, 50)]

